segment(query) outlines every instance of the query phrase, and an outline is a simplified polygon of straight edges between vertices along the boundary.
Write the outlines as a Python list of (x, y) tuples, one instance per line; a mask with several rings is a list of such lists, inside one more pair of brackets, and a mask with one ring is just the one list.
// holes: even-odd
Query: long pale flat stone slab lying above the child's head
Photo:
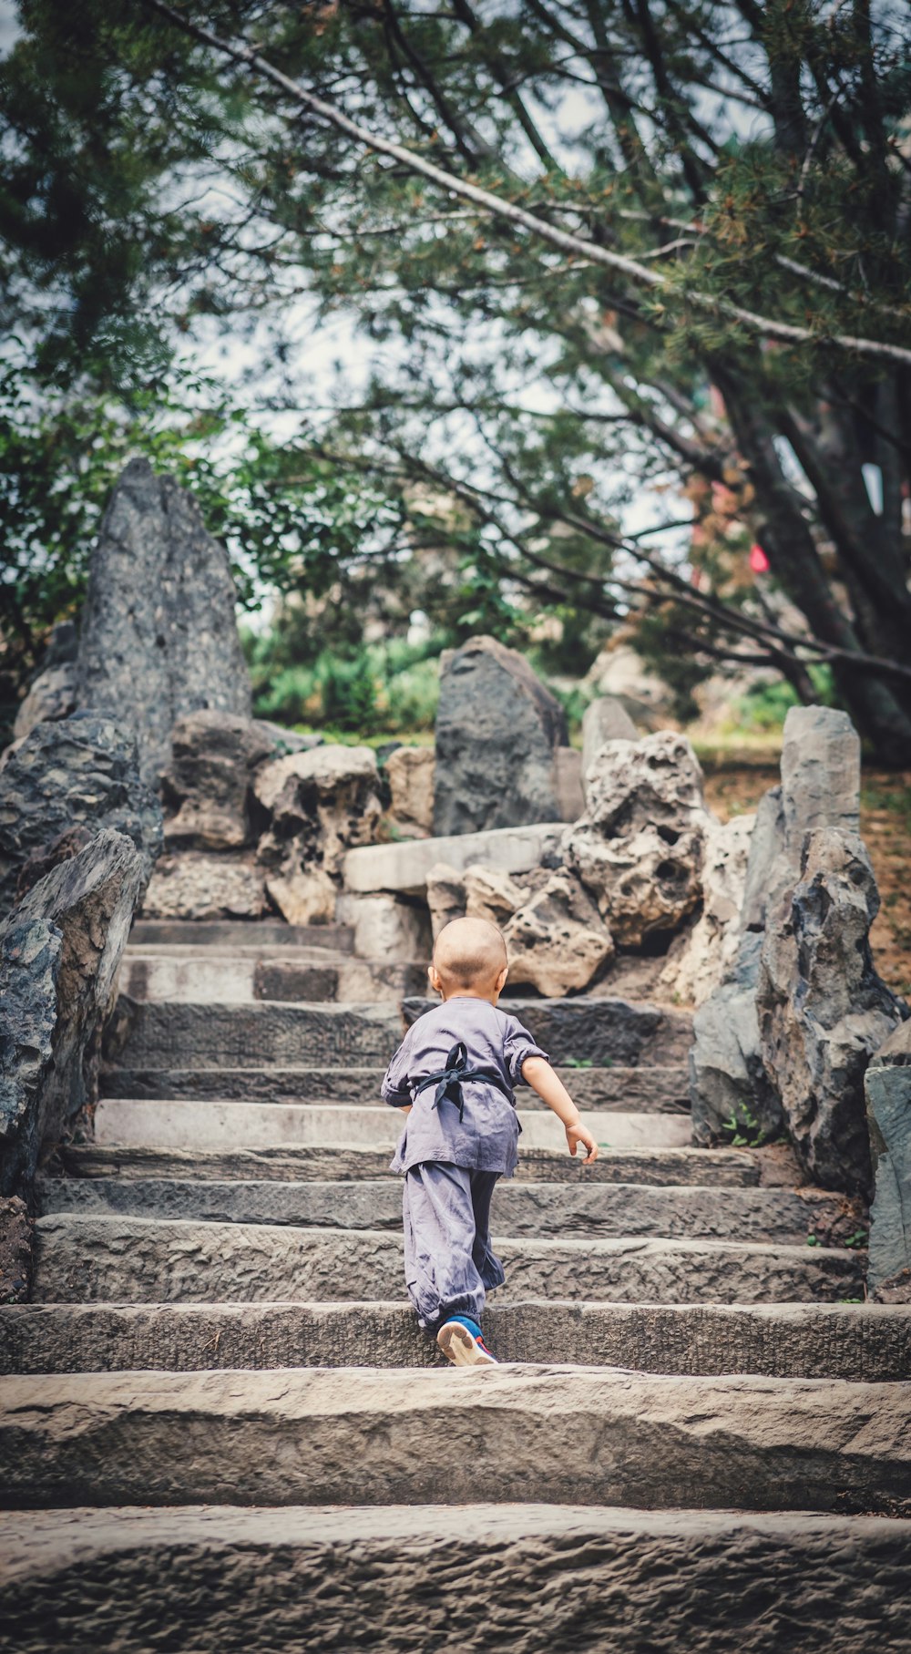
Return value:
[(498, 827), (491, 832), (461, 834), (455, 839), (415, 839), (412, 844), (374, 844), (349, 850), (344, 858), (346, 890), (369, 895), (392, 890), (423, 896), (430, 872), (443, 863), (461, 873), (466, 867), (496, 867), (504, 873), (531, 873), (537, 867), (560, 867), (564, 822), (532, 827)]

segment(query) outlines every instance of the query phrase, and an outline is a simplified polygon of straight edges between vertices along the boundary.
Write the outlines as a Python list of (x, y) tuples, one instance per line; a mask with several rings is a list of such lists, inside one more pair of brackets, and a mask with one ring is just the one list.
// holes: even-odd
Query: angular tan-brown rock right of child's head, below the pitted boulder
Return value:
[[(471, 873), (466, 875), (466, 882)], [(613, 938), (594, 901), (567, 868), (524, 901), (504, 926), (509, 981), (560, 997), (587, 987), (613, 956)]]

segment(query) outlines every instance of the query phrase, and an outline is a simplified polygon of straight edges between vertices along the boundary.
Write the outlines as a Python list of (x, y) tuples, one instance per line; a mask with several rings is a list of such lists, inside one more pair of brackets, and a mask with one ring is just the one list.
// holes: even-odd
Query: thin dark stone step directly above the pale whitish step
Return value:
[[(686, 1113), (689, 1082), (686, 1068), (610, 1067), (557, 1068), (580, 1108), (630, 1108), (643, 1113)], [(103, 1097), (215, 1097), (253, 1103), (375, 1103), (384, 1068), (107, 1068), (101, 1075)], [(531, 1087), (521, 1087), (522, 1107), (537, 1108)]]

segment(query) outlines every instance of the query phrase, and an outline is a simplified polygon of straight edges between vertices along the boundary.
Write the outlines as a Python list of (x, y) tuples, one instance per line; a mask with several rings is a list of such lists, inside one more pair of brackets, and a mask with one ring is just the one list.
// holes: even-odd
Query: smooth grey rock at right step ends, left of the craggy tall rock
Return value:
[(727, 978), (693, 1017), (689, 1105), (693, 1141), (777, 1138), (784, 1110), (769, 1083), (759, 1040), (756, 984), (762, 936), (747, 931)]

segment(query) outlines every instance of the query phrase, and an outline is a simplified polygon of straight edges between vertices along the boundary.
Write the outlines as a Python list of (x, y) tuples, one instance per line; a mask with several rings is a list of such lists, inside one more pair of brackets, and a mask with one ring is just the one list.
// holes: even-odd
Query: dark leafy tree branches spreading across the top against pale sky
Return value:
[[(390, 501), (360, 556), (390, 590), (450, 557), (446, 624), (498, 589), (696, 676), (762, 663), (812, 698), (825, 663), (911, 761), (906, 8), (60, 13), (30, 5), (0, 74), (38, 370), (149, 382), (175, 344), (245, 339), (250, 418)], [(38, 245), (63, 185), (79, 210)]]

